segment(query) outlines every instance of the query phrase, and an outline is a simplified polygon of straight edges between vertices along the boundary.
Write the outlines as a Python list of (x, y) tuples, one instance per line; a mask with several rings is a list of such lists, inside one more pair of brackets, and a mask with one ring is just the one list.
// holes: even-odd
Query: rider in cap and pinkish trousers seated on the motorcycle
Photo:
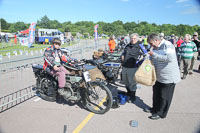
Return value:
[[(58, 38), (54, 38), (51, 47), (48, 47), (44, 52), (44, 70), (50, 70), (50, 73), (58, 77), (58, 93), (65, 95), (65, 74), (70, 74), (63, 66), (63, 62), (67, 62), (64, 54), (60, 50), (61, 41)], [(52, 90), (54, 91), (54, 90)]]

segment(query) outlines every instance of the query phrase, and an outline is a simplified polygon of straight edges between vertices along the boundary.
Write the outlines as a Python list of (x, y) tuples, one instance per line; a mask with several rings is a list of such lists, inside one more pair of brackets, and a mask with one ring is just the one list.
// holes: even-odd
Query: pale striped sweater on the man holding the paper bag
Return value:
[(152, 60), (156, 70), (156, 78), (160, 83), (177, 83), (180, 71), (174, 45), (162, 40), (158, 48), (153, 49)]

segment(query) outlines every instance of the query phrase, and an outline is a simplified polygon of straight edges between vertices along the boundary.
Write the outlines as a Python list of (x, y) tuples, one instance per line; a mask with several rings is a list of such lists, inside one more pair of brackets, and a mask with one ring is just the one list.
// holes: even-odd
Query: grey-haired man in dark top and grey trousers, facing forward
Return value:
[(139, 35), (137, 33), (131, 34), (130, 43), (126, 45), (122, 53), (122, 81), (126, 85), (127, 95), (130, 97), (129, 102), (136, 100), (137, 83), (134, 81), (134, 76), (137, 70), (136, 62), (142, 54), (138, 39)]

